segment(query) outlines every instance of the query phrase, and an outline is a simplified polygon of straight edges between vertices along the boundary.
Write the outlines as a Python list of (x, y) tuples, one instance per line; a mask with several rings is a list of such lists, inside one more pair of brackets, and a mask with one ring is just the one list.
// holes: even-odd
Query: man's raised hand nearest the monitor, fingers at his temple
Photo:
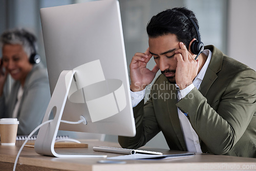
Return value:
[(155, 78), (159, 68), (155, 66), (152, 71), (146, 68), (147, 62), (151, 58), (152, 54), (150, 54), (149, 48), (147, 48), (145, 53), (136, 53), (133, 56), (130, 64), (131, 91), (138, 92), (144, 90)]

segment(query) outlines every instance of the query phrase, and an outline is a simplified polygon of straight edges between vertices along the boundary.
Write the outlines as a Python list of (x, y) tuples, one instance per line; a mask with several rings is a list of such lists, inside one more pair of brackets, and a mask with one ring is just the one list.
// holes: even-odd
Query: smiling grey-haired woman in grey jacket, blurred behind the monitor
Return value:
[[(47, 70), (36, 54), (36, 37), (24, 29), (5, 31), (0, 38), (0, 118), (17, 118), (17, 135), (29, 135), (45, 116), (50, 101)], [(4, 92), (7, 75), (14, 79)]]

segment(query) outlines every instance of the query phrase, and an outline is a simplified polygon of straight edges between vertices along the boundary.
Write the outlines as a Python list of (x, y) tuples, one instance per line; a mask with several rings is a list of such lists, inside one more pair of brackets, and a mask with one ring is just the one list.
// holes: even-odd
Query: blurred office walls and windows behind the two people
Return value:
[[(0, 33), (16, 27), (34, 33), (38, 38), (38, 54), (46, 66), (39, 9), (85, 2), (89, 0), (0, 0)], [(226, 55), (256, 70), (254, 0), (119, 0), (119, 4), (127, 65), (136, 52), (147, 49), (145, 29), (153, 15), (167, 8), (187, 7), (195, 12), (199, 20), (204, 45), (214, 45)], [(154, 65), (151, 60), (149, 68)], [(117, 136), (106, 135), (104, 140), (117, 142)], [(168, 148), (161, 133), (146, 145)]]

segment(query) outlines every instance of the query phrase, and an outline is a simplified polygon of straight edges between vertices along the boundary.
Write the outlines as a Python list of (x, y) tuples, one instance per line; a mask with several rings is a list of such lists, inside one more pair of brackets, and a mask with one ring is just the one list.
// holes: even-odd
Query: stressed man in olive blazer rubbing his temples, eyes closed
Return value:
[[(149, 48), (130, 65), (136, 136), (118, 141), (138, 148), (162, 131), (170, 149), (255, 158), (256, 72), (214, 46), (204, 47), (198, 28), (186, 8), (152, 17)], [(148, 70), (152, 57), (156, 66)], [(162, 74), (144, 104), (145, 87), (158, 70)]]

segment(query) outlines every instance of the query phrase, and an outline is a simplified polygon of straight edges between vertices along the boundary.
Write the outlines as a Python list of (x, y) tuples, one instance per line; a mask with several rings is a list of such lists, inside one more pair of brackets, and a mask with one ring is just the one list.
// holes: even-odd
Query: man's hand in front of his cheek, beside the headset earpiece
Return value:
[(195, 60), (194, 56), (187, 51), (186, 46), (180, 42), (180, 49), (175, 51), (177, 59), (176, 83), (180, 90), (189, 86), (198, 74), (199, 59)]

